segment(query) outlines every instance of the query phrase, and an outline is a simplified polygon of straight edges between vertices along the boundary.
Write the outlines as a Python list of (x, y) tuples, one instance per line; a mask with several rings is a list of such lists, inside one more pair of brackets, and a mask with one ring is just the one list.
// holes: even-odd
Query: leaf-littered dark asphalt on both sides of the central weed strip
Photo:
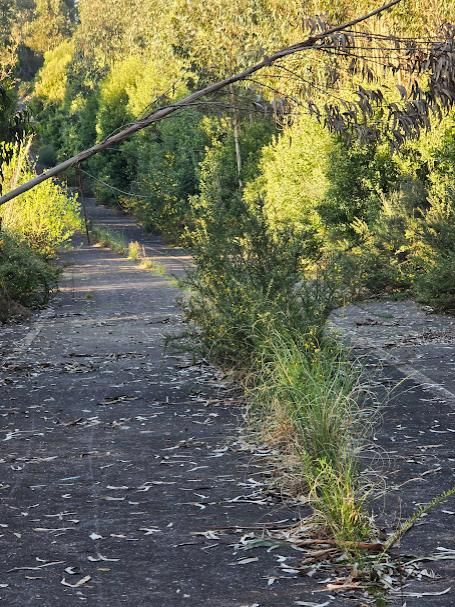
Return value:
[[(182, 275), (190, 264), (122, 214), (93, 201), (89, 214), (138, 240), (168, 272)], [(82, 238), (63, 262), (52, 306), (0, 329), (0, 604), (367, 604), (327, 592), (326, 572), (293, 573), (299, 553), (290, 547), (236, 548), (251, 527), (260, 535), (261, 526), (304, 511), (267, 489), (267, 451), (241, 439), (232, 386), (206, 364), (166, 351), (164, 336), (182, 328), (175, 284)], [(453, 483), (454, 403), (422, 377), (454, 391), (455, 331), (450, 319), (399, 303), (349, 308), (337, 324), (372, 365), (372, 345), (395, 356), (379, 391), (402, 381), (375, 436), (389, 487), (375, 508), (390, 530)], [(403, 381), (410, 368), (420, 379)], [(455, 548), (452, 509), (421, 521), (403, 550)], [(451, 586), (454, 561), (433, 565), (444, 577), (409, 592)], [(439, 597), (406, 597), (407, 606), (449, 605), (452, 585)]]

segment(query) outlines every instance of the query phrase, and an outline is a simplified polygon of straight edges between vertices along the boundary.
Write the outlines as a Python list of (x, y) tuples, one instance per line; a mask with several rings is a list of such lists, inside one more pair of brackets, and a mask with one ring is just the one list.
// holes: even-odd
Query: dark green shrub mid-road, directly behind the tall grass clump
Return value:
[(317, 340), (333, 293), (329, 296), (318, 281), (303, 281), (300, 233), (272, 232), (261, 208), (242, 204), (237, 201), (235, 224), (226, 216), (217, 219), (215, 212), (193, 234), (196, 267), (186, 281), (185, 308), (206, 354), (218, 363), (248, 368), (272, 323), (292, 318)]

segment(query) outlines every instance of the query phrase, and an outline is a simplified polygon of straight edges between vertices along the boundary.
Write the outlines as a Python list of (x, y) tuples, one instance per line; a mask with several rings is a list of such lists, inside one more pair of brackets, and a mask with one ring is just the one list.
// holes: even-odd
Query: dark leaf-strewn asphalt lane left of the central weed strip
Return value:
[[(112, 210), (89, 212), (184, 272), (184, 251)], [(327, 600), (284, 571), (295, 550), (236, 551), (243, 533), (211, 532), (292, 521), (299, 509), (263, 491), (266, 453), (239, 440), (238, 394), (165, 350), (163, 336), (181, 329), (175, 284), (82, 238), (63, 262), (51, 308), (0, 331), (0, 604)]]

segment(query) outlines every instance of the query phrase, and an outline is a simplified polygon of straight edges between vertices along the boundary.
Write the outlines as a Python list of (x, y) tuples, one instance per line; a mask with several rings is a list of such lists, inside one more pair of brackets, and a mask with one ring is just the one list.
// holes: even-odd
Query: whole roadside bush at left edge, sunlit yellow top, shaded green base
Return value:
[[(31, 141), (0, 144), (0, 190), (36, 175)], [(54, 181), (3, 205), (0, 209), (0, 320), (25, 316), (45, 305), (57, 288), (52, 262), (81, 226), (79, 203)]]

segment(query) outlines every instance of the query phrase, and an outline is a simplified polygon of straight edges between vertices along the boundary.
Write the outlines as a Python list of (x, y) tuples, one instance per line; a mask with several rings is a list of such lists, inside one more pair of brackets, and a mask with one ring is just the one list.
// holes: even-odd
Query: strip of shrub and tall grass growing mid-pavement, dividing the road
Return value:
[(290, 456), (323, 533), (355, 552), (374, 536), (359, 461), (372, 418), (359, 370), (325, 334), (340, 289), (326, 262), (305, 267), (304, 234), (272, 232), (260, 206), (237, 217), (200, 218), (184, 304), (193, 347), (235, 370), (259, 439), (279, 448), (281, 466)]

